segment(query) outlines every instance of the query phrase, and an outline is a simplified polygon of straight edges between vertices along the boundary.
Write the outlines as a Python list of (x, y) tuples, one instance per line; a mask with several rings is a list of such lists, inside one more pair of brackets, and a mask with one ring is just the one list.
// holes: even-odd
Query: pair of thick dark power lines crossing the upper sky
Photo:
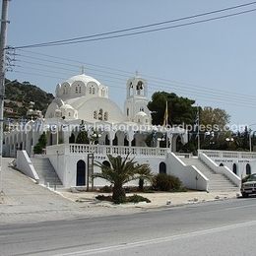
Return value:
[[(242, 14), (247, 14), (247, 13), (255, 12), (256, 9), (250, 9), (250, 10), (240, 11), (240, 12), (227, 14), (227, 15), (223, 15), (223, 16), (208, 18), (205, 20), (199, 20), (199, 21), (183, 23), (183, 24), (178, 24), (178, 25), (174, 25), (174, 26), (167, 26), (167, 27), (162, 27), (162, 28), (157, 28), (157, 29), (145, 30), (145, 31), (140, 31), (140, 32), (131, 32), (131, 31), (138, 31), (138, 30), (152, 28), (152, 27), (156, 27), (156, 26), (160, 26), (160, 25), (164, 25), (164, 24), (171, 24), (171, 23), (176, 23), (176, 22), (180, 22), (180, 21), (191, 20), (191, 19), (204, 17), (204, 16), (208, 16), (208, 15), (213, 15), (213, 14), (217, 14), (217, 13), (222, 13), (222, 12), (239, 9), (239, 8), (243, 8), (243, 7), (247, 7), (247, 6), (251, 6), (251, 5), (255, 5), (255, 4), (256, 4), (256, 2), (250, 2), (247, 4), (236, 5), (236, 6), (220, 9), (220, 10), (215, 10), (215, 11), (211, 11), (211, 12), (207, 12), (207, 13), (182, 17), (182, 18), (169, 20), (169, 21), (163, 21), (163, 22), (155, 23), (155, 24), (149, 24), (149, 25), (133, 27), (133, 28), (123, 29), (123, 30), (117, 30), (117, 31), (112, 31), (112, 32), (95, 33), (95, 34), (91, 34), (91, 35), (73, 37), (73, 38), (69, 38), (69, 39), (62, 39), (62, 40), (48, 41), (48, 42), (42, 42), (42, 43), (34, 43), (34, 44), (29, 44), (29, 45), (22, 45), (22, 46), (17, 46), (14, 48), (23, 49), (23, 48), (32, 48), (32, 47), (67, 45), (67, 44), (73, 44), (73, 43), (81, 43), (81, 42), (111, 39), (111, 38), (117, 38), (117, 37), (123, 37), (123, 36), (131, 36), (131, 35), (137, 35), (137, 34), (148, 33), (148, 32), (160, 32), (160, 31), (164, 31), (164, 30), (176, 29), (176, 28), (206, 23), (206, 22), (210, 22), (210, 21), (221, 20), (221, 19), (238, 16), (238, 15), (242, 15)], [(122, 32), (124, 32), (124, 33), (122, 33)], [(118, 33), (118, 34), (116, 34), (116, 33)], [(121, 33), (121, 34), (119, 34), (119, 33)], [(110, 35), (110, 34), (113, 34), (113, 35)]]

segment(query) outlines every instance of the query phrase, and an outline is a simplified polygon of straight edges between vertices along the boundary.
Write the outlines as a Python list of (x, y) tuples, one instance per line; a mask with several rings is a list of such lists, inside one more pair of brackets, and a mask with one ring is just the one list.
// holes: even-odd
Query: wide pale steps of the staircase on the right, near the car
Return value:
[(197, 157), (179, 157), (186, 165), (194, 165), (209, 179), (209, 191), (238, 191), (239, 188), (224, 174), (214, 172), (208, 165)]

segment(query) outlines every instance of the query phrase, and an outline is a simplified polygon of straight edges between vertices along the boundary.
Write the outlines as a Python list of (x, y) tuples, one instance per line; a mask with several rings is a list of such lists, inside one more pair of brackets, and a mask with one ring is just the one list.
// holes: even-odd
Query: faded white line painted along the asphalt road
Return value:
[(177, 239), (189, 238), (189, 237), (193, 237), (193, 236), (200, 236), (200, 235), (225, 231), (228, 229), (234, 229), (234, 228), (238, 228), (238, 227), (246, 227), (246, 226), (252, 226), (252, 225), (256, 225), (256, 221), (250, 221), (250, 222), (240, 223), (240, 224), (228, 224), (228, 225), (214, 227), (214, 228), (205, 229), (205, 230), (199, 230), (199, 231), (182, 233), (182, 234), (175, 234), (175, 235), (170, 235), (170, 236), (165, 236), (165, 237), (160, 237), (160, 238), (155, 238), (155, 239), (141, 240), (141, 241), (136, 241), (136, 242), (129, 242), (129, 243), (125, 243), (125, 244), (118, 244), (118, 245), (106, 246), (106, 247), (77, 251), (77, 252), (55, 254), (55, 256), (93, 255), (93, 254), (98, 254), (98, 253), (117, 251), (117, 250), (134, 248), (134, 247), (139, 247), (139, 246), (158, 244), (158, 243), (162, 243), (162, 242), (168, 242), (168, 241), (173, 241), (173, 240), (177, 240)]

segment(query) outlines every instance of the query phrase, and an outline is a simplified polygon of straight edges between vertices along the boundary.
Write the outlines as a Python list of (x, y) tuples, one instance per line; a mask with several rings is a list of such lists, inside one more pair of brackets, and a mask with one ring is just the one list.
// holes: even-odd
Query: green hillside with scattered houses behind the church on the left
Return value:
[(41, 110), (43, 114), (47, 105), (54, 98), (38, 87), (31, 85), (30, 82), (20, 83), (6, 80), (5, 88), (5, 118), (26, 118), (30, 102), (34, 102), (34, 108)]

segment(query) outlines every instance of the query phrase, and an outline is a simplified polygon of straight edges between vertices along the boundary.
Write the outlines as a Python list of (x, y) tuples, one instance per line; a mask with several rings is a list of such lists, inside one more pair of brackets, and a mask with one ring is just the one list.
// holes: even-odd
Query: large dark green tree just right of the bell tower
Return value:
[(195, 100), (166, 92), (155, 93), (148, 104), (149, 109), (152, 111), (153, 124), (162, 125), (166, 101), (168, 106), (168, 124), (193, 124), (196, 107), (192, 105), (195, 103)]

